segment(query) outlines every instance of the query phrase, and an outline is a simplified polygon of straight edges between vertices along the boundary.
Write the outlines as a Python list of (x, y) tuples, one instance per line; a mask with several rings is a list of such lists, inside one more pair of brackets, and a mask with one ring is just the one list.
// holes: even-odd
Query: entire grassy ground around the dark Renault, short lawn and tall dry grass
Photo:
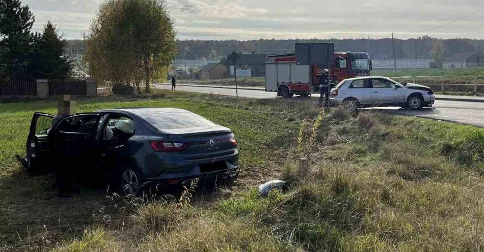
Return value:
[[(28, 177), (12, 160), (24, 152), (32, 112), (53, 112), (55, 102), (0, 103), (0, 250), (484, 249), (483, 129), (340, 109), (314, 127), (318, 110), (307, 104), (182, 92), (88, 99), (79, 108), (128, 106), (189, 109), (234, 130), (240, 181), (169, 200), (105, 197), (97, 187), (61, 200), (48, 189), (51, 177)], [(298, 178), (297, 157), (308, 153), (310, 174)], [(290, 187), (259, 197), (255, 186), (277, 177)]]

